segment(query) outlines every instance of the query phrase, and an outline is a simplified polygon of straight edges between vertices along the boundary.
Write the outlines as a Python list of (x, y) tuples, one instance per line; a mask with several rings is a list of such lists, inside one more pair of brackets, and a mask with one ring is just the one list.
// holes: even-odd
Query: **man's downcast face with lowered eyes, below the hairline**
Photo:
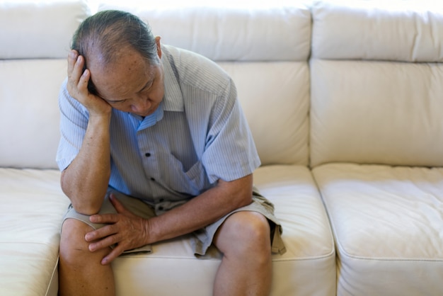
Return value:
[(121, 50), (112, 64), (92, 63), (90, 71), (98, 96), (117, 110), (144, 117), (163, 100), (163, 66), (149, 64), (135, 50)]

